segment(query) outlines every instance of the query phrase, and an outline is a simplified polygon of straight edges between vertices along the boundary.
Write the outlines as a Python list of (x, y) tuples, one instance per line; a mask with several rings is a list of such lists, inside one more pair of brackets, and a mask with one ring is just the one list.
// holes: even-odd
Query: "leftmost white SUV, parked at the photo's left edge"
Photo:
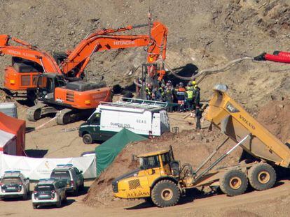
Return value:
[(20, 171), (6, 171), (0, 181), (0, 198), (22, 197), (29, 195), (29, 179)]

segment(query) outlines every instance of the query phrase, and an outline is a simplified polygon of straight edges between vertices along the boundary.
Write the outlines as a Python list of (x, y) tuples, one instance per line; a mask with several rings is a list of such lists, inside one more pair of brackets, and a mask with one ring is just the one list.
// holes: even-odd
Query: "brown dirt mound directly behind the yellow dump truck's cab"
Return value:
[[(152, 140), (129, 144), (120, 153), (113, 164), (102, 173), (101, 177), (92, 184), (88, 195), (85, 197), (85, 204), (97, 207), (116, 207), (136, 203), (134, 201), (113, 199), (111, 195), (111, 181), (138, 166), (136, 162), (132, 162), (132, 154), (168, 149), (169, 145), (172, 145), (174, 157), (181, 160), (181, 164), (191, 163), (193, 168), (196, 168), (202, 160), (205, 159), (205, 156), (208, 156), (216, 145), (221, 144), (225, 138), (226, 137), (219, 133), (218, 130), (209, 132), (202, 130), (200, 133), (193, 130), (184, 130), (177, 135), (165, 133), (161, 137), (156, 137)], [(232, 143), (228, 142), (228, 144), (219, 151), (217, 156), (221, 156), (221, 153), (225, 153), (231, 145)], [(237, 163), (240, 159), (241, 152), (241, 149), (235, 151), (223, 160), (221, 164), (219, 164), (219, 167)]]

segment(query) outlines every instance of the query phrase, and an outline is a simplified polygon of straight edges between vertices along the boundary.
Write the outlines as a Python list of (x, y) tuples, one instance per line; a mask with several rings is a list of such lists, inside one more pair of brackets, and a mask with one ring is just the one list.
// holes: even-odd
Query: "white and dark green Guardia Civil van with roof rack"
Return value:
[(85, 144), (107, 140), (123, 128), (145, 136), (160, 136), (170, 131), (167, 103), (122, 98), (116, 103), (100, 103), (88, 121), (81, 124), (79, 135)]

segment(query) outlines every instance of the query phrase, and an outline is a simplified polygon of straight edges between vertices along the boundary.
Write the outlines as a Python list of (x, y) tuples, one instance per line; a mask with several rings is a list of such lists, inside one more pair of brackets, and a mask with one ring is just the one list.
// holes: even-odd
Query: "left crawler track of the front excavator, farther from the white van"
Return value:
[(29, 107), (26, 112), (28, 121), (37, 121), (47, 114), (56, 113), (57, 109), (43, 103), (37, 103), (36, 105)]

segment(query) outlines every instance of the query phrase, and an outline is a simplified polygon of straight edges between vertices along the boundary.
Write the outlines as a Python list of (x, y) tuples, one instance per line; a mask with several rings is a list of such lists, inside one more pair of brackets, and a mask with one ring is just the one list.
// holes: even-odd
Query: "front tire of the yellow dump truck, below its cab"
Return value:
[(170, 180), (159, 181), (151, 191), (151, 199), (157, 207), (171, 207), (179, 202), (180, 191)]

